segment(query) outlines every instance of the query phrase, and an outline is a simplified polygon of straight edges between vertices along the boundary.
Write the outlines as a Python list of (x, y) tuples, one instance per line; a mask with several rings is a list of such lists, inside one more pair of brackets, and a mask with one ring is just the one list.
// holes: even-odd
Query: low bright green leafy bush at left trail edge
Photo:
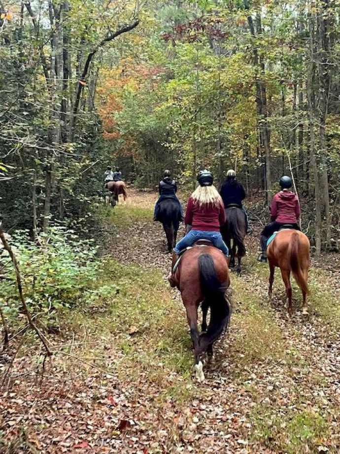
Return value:
[[(33, 313), (48, 314), (70, 308), (81, 301), (83, 292), (96, 282), (99, 262), (97, 248), (91, 241), (81, 240), (72, 231), (51, 228), (41, 236), (42, 246), (17, 231), (11, 240), (17, 257), (26, 303)], [(20, 299), (14, 269), (9, 257), (1, 255), (6, 280), (0, 280), (0, 306), (14, 321), (19, 314)]]

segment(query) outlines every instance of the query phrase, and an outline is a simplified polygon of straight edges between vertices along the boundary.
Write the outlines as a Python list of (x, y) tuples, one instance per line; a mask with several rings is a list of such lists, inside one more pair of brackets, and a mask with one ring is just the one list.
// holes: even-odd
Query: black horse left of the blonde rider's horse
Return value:
[(180, 219), (181, 212), (176, 200), (169, 197), (160, 202), (158, 220), (163, 224), (167, 235), (169, 252), (175, 247)]

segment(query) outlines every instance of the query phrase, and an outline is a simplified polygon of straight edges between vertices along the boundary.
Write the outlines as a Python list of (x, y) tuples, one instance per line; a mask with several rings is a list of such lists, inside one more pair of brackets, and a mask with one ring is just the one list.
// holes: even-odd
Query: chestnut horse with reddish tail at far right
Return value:
[(302, 313), (308, 314), (306, 295), (309, 294), (307, 279), (309, 269), (309, 240), (299, 230), (286, 228), (280, 230), (267, 248), (267, 257), (270, 268), (269, 298), (272, 299), (272, 283), (274, 281), (275, 266), (281, 270), (282, 279), (286, 287), (288, 311), (292, 313), (292, 287), (290, 273), (302, 291)]

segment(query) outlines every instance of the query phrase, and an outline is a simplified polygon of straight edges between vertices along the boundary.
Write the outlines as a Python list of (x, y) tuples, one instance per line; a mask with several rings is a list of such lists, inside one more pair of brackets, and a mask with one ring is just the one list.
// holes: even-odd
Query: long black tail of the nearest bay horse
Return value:
[(219, 281), (214, 262), (209, 254), (199, 257), (201, 287), (204, 300), (210, 307), (210, 321), (206, 333), (201, 334), (202, 351), (217, 340), (229, 323), (230, 308), (225, 297), (226, 288)]

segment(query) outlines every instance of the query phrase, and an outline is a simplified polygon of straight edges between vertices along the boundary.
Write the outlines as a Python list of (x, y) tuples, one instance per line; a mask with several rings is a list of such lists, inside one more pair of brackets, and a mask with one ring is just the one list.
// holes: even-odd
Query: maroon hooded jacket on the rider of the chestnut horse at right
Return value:
[(290, 190), (277, 192), (272, 198), (272, 220), (283, 224), (296, 224), (300, 216), (297, 195)]

